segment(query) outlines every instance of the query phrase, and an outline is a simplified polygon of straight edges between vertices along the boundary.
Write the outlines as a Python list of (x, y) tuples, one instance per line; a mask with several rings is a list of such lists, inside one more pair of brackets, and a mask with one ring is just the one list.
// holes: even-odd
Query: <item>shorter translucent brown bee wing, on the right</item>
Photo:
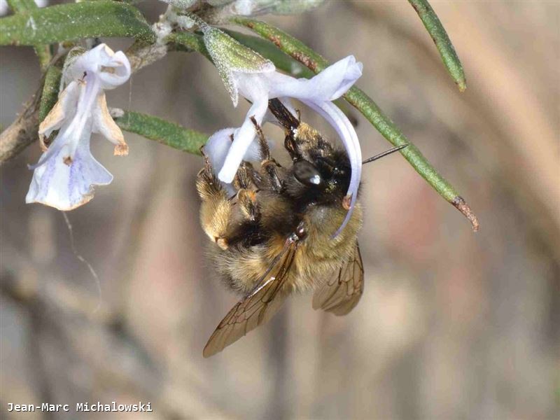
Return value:
[(313, 309), (323, 309), (335, 315), (346, 315), (360, 301), (363, 293), (363, 262), (356, 241), (348, 261), (313, 295)]

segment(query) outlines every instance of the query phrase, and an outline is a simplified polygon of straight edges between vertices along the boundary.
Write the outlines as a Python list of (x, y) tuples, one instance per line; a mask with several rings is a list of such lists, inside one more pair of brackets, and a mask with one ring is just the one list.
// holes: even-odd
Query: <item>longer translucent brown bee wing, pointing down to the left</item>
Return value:
[(243, 300), (228, 312), (209, 338), (202, 356), (213, 356), (225, 347), (254, 330), (258, 325), (269, 321), (280, 309), (288, 296), (282, 290), (292, 266), (298, 242), (286, 243), (279, 255), (274, 258), (257, 286)]

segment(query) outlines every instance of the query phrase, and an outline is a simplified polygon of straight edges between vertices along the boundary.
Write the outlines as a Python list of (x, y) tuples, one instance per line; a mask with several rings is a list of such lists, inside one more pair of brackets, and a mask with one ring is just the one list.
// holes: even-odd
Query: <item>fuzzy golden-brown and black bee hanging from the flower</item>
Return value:
[(338, 316), (356, 307), (363, 294), (359, 201), (342, 232), (333, 236), (349, 207), (351, 167), (346, 151), (278, 99), (269, 101), (269, 110), (286, 134), (290, 167), (271, 157), (253, 119), (260, 167), (242, 162), (234, 195), (218, 181), (207, 157), (197, 174), (200, 221), (213, 242), (210, 259), (226, 285), (243, 296), (209, 338), (205, 358), (269, 321), (291, 293), (315, 290), (313, 308)]

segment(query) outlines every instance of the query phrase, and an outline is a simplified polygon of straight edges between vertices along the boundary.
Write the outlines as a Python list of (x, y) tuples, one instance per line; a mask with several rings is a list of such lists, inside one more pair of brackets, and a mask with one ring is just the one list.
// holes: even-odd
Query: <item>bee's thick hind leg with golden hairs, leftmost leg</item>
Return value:
[[(204, 156), (203, 152), (202, 155)], [(202, 200), (200, 206), (202, 229), (218, 246), (227, 249), (226, 235), (232, 216), (232, 202), (229, 200), (228, 192), (214, 175), (206, 156), (204, 156), (204, 168), (197, 174), (196, 185)]]

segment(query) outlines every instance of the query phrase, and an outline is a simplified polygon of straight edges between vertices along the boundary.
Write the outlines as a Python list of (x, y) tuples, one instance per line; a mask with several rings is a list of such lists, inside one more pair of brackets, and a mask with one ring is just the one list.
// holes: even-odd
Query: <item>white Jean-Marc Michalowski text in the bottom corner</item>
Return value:
[(75, 405), (70, 404), (14, 404), (8, 402), (8, 412), (69, 412), (70, 409), (76, 412), (153, 412), (151, 402), (141, 402), (136, 404), (117, 404), (111, 401), (109, 404), (102, 402), (76, 402)]

